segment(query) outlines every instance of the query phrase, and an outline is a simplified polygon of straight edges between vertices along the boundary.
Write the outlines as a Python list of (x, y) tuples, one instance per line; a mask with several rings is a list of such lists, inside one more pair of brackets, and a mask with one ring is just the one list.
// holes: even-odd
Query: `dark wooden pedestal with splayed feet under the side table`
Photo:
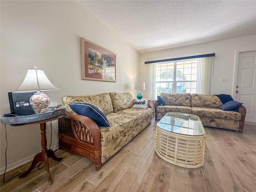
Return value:
[(52, 178), (50, 175), (50, 169), (49, 169), (49, 163), (48, 163), (48, 158), (52, 158), (53, 160), (60, 161), (62, 158), (57, 158), (53, 152), (53, 150), (47, 150), (47, 140), (46, 140), (46, 123), (41, 123), (40, 124), (40, 130), (41, 130), (41, 146), (42, 146), (42, 152), (36, 154), (34, 157), (32, 164), (30, 168), (24, 172), (22, 175), (20, 175), (19, 178), (26, 177), (35, 167), (39, 162), (44, 162), (45, 167), (46, 167), (46, 172), (47, 172), (47, 177), (48, 177), (48, 182), (49, 185), (52, 185)]

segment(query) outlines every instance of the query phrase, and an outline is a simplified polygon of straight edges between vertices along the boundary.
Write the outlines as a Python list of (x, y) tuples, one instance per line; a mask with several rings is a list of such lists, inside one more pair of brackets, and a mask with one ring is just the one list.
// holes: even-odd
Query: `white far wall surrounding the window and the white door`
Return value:
[[(145, 61), (215, 53), (214, 76), (212, 76), (210, 94), (232, 95), (236, 86), (236, 74), (234, 74), (237, 68), (235, 64), (236, 51), (250, 50), (256, 50), (256, 35), (142, 54), (140, 81), (145, 81), (146, 85), (150, 82), (148, 73), (150, 73), (151, 65), (144, 64)], [(222, 78), (228, 78), (228, 82), (222, 83)], [(144, 95), (150, 98), (150, 89), (145, 90)]]

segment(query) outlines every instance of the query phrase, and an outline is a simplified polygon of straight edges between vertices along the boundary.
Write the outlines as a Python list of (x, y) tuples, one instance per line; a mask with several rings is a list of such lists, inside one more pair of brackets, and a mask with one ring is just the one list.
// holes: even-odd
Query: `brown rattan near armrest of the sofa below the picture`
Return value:
[[(66, 113), (65, 117), (58, 119), (58, 127), (60, 148), (87, 156), (95, 162), (96, 170), (99, 170), (101, 167), (101, 134), (96, 122), (87, 116)], [(62, 146), (63, 144), (68, 145)], [(86, 152), (80, 152), (81, 148)]]

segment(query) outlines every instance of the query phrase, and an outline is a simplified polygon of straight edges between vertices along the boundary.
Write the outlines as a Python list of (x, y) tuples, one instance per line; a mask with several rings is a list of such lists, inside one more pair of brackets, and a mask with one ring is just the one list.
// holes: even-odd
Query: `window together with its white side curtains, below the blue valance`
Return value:
[(152, 96), (157, 98), (161, 92), (210, 94), (214, 55), (155, 61), (152, 65)]

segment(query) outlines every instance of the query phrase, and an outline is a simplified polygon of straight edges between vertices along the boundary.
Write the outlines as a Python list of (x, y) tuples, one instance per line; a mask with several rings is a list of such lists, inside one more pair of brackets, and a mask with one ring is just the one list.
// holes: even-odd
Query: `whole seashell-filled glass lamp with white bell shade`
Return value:
[(37, 91), (30, 97), (29, 102), (34, 112), (40, 114), (47, 112), (50, 107), (50, 98), (41, 92), (48, 90), (59, 90), (59, 88), (48, 80), (42, 69), (34, 67), (28, 69), (25, 79), (15, 91)]

